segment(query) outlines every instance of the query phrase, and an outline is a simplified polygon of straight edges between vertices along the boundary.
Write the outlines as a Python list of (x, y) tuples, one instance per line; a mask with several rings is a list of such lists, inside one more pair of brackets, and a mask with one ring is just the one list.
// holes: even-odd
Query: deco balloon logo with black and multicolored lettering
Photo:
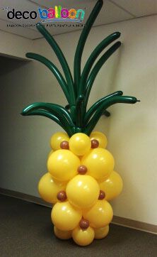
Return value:
[(13, 20), (16, 18), (20, 20), (21, 18), (27, 20), (28, 18), (35, 20), (40, 17), (43, 23), (55, 22), (55, 21), (72, 21), (81, 23), (85, 16), (85, 11), (83, 9), (66, 9), (62, 6), (55, 6), (49, 9), (38, 8), (37, 11), (16, 11), (15, 9), (10, 10), (9, 7), (3, 8), (7, 11), (7, 18)]

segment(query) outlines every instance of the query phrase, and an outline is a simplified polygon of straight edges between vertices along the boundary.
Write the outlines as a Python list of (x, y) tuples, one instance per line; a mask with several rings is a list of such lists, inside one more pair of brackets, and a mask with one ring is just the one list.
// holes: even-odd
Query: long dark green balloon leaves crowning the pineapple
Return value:
[[(86, 25), (84, 26), (79, 38), (79, 43), (76, 47), (76, 53), (74, 56), (74, 79), (71, 75), (69, 65), (64, 57), (64, 54), (62, 53), (61, 48), (59, 48), (59, 45), (54, 40), (52, 35), (50, 35), (50, 33), (45, 29), (45, 27), (42, 26), (41, 23), (37, 23), (37, 30), (40, 31), (45, 40), (47, 40), (47, 43), (49, 43), (52, 47), (54, 53), (57, 55), (57, 58), (62, 66), (64, 76), (62, 75), (62, 72), (60, 72), (54, 65), (54, 63), (44, 56), (37, 55), (35, 53), (27, 53), (26, 57), (42, 62), (42, 64), (46, 65), (51, 70), (64, 92), (69, 110), (58, 104), (36, 102), (25, 107), (21, 113), (22, 115), (46, 116), (47, 118), (57, 122), (59, 126), (62, 126), (64, 131), (66, 131), (69, 136), (72, 136), (77, 132), (90, 135), (102, 114), (110, 116), (110, 113), (106, 110), (109, 106), (117, 103), (134, 104), (138, 101), (135, 97), (123, 96), (122, 91), (117, 91), (103, 97), (102, 99), (98, 100), (98, 102), (95, 102), (95, 104), (93, 104), (93, 106), (91, 106), (91, 108), (87, 111), (88, 99), (95, 81), (95, 77), (98, 75), (100, 68), (104, 65), (107, 59), (110, 58), (110, 56), (115, 53), (115, 51), (120, 48), (121, 45), (120, 41), (117, 41), (110, 46), (110, 48), (108, 48), (100, 58), (98, 58), (108, 45), (117, 40), (117, 38), (120, 38), (120, 32), (115, 32), (108, 35), (107, 38), (102, 40), (93, 50), (86, 62), (86, 65), (83, 67), (83, 71), (81, 72), (83, 48), (95, 18), (98, 16), (102, 6), (103, 1), (98, 0), (93, 8), (93, 11), (88, 17), (88, 21), (86, 22)], [(97, 62), (94, 65), (96, 60)]]

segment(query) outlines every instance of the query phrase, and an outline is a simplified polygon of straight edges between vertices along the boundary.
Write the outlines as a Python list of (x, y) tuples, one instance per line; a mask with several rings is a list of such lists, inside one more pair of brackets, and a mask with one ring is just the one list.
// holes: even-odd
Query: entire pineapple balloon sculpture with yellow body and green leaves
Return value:
[(81, 72), (81, 56), (86, 38), (98, 16), (103, 1), (98, 0), (83, 28), (74, 57), (74, 80), (62, 50), (50, 33), (37, 23), (37, 29), (51, 45), (62, 65), (65, 78), (57, 67), (42, 55), (27, 53), (28, 58), (46, 65), (57, 78), (68, 106), (36, 102), (22, 111), (22, 115), (46, 116), (57, 122), (65, 132), (51, 138), (52, 151), (48, 156), (48, 173), (42, 176), (38, 190), (45, 201), (54, 204), (52, 222), (59, 239), (74, 239), (76, 244), (87, 246), (93, 239), (103, 239), (112, 221), (112, 207), (108, 201), (122, 190), (122, 178), (114, 170), (114, 158), (105, 148), (107, 138), (93, 131), (100, 116), (110, 116), (106, 110), (112, 104), (138, 102), (135, 97), (123, 96), (117, 91), (103, 97), (87, 109), (88, 97), (96, 75), (104, 62), (120, 47), (114, 43), (96, 62), (98, 55), (120, 37), (119, 32), (107, 36), (93, 50)]

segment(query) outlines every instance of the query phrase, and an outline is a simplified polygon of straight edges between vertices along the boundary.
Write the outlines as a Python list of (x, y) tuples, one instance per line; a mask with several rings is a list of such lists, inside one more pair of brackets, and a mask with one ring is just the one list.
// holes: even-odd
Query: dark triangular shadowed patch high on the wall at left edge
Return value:
[(30, 60), (20, 60), (0, 55), (0, 76), (26, 65), (28, 62), (30, 62)]

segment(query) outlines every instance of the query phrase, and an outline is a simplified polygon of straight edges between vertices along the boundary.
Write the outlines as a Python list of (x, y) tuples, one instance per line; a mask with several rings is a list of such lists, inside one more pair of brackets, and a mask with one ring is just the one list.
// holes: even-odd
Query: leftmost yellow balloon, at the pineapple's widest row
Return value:
[(43, 175), (38, 184), (38, 191), (42, 199), (52, 204), (57, 202), (57, 193), (61, 190), (65, 190), (65, 188), (66, 184), (54, 181), (50, 173)]

